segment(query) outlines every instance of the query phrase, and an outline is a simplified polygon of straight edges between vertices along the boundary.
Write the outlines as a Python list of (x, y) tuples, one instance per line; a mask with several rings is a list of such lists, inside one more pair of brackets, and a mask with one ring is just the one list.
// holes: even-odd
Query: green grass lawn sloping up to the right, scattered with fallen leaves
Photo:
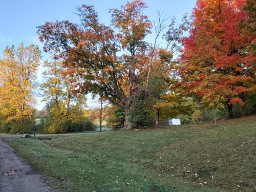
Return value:
[(211, 125), (7, 142), (56, 191), (255, 191), (256, 116)]

